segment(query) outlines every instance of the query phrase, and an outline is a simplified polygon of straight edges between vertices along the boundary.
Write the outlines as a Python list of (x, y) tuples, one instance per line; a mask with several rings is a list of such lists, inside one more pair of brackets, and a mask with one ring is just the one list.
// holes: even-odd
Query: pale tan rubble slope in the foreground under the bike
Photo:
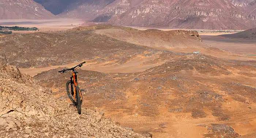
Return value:
[(82, 115), (77, 114), (74, 106), (54, 98), (50, 89), (14, 66), (0, 62), (0, 77), (1, 137), (152, 137), (117, 126), (102, 111), (83, 107)]

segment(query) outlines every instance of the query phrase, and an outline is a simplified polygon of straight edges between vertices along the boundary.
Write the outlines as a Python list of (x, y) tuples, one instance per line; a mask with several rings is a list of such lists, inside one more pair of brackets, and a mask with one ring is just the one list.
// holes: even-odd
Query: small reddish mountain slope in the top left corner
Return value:
[(0, 0), (0, 19), (48, 19), (54, 15), (33, 0)]

